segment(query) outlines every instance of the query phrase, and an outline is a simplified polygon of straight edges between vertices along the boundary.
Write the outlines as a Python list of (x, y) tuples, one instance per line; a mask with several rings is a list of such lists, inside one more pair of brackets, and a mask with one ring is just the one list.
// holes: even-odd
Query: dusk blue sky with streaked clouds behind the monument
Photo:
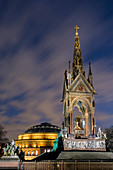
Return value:
[(10, 139), (44, 121), (61, 126), (76, 25), (97, 127), (113, 125), (113, 1), (0, 0), (0, 124)]

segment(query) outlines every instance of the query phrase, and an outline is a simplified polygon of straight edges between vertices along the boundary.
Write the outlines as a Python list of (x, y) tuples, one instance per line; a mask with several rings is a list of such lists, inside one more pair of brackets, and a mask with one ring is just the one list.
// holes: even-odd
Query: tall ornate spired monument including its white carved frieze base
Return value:
[(62, 98), (64, 147), (105, 150), (104, 134), (99, 129), (98, 137), (95, 135), (95, 89), (91, 64), (89, 63), (89, 73), (88, 78), (86, 78), (81, 58), (79, 27), (76, 26), (75, 29), (72, 72), (69, 61), (69, 69), (64, 73)]

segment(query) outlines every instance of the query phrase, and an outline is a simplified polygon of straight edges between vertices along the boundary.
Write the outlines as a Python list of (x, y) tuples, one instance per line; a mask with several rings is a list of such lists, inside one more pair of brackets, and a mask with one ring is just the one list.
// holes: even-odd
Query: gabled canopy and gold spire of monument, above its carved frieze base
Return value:
[[(78, 28), (78, 27), (77, 27)], [(89, 134), (94, 134), (94, 110), (95, 106), (91, 103), (94, 101), (95, 89), (92, 82), (91, 64), (89, 64), (88, 79), (83, 70), (83, 62), (81, 57), (81, 49), (78, 33), (75, 33), (75, 44), (73, 52), (72, 72), (69, 61), (69, 70), (64, 73), (64, 88), (63, 88), (63, 105), (64, 105), (64, 129), (66, 128), (69, 134), (74, 134), (78, 137), (88, 137)], [(78, 108), (79, 113), (75, 113), (75, 108)], [(75, 115), (76, 114), (76, 115)], [(75, 130), (76, 124), (74, 119), (80, 116), (78, 129)], [(86, 115), (88, 115), (86, 117)], [(79, 131), (82, 130), (82, 136)]]

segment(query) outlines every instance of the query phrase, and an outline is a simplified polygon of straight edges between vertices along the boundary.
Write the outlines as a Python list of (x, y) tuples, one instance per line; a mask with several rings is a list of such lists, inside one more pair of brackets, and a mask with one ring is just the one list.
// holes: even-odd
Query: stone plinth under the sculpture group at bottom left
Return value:
[(0, 159), (0, 169), (19, 169), (18, 156), (3, 156)]

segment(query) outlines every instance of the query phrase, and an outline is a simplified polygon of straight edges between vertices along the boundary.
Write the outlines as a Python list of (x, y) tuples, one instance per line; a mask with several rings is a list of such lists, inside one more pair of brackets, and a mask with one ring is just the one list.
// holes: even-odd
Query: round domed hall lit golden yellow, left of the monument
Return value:
[(19, 145), (19, 151), (25, 153), (25, 160), (31, 160), (44, 152), (52, 151), (53, 142), (60, 131), (58, 126), (47, 122), (41, 123), (19, 135), (15, 145)]

